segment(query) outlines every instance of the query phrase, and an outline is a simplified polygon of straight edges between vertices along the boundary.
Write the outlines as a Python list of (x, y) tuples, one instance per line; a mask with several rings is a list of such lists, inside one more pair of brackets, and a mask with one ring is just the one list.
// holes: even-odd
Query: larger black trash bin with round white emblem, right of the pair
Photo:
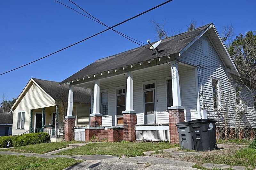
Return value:
[(189, 127), (193, 133), (193, 141), (196, 151), (212, 151), (217, 149), (215, 119), (196, 119), (189, 121)]

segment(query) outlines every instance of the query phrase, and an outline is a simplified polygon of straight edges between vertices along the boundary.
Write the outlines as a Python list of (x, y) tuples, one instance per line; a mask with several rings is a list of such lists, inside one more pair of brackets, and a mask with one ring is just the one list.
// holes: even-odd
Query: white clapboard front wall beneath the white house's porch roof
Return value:
[[(195, 69), (179, 64), (179, 74), (181, 76), (182, 103), (188, 109), (189, 120), (196, 115), (196, 81)], [(166, 101), (166, 78), (171, 77), (171, 67), (168, 64), (150, 67), (148, 69), (135, 71), (133, 74), (133, 109), (137, 111), (137, 124), (144, 124), (144, 106), (143, 106), (143, 82), (156, 81), (155, 88), (155, 110), (156, 123), (168, 124), (169, 115)], [(126, 87), (126, 75), (103, 79), (100, 81), (100, 90), (108, 89), (108, 116), (102, 117), (102, 126), (116, 125), (116, 88)], [(183, 91), (184, 90), (184, 91)], [(92, 89), (92, 94), (94, 90)], [(184, 98), (184, 99), (183, 99)], [(93, 108), (93, 99), (92, 99)]]

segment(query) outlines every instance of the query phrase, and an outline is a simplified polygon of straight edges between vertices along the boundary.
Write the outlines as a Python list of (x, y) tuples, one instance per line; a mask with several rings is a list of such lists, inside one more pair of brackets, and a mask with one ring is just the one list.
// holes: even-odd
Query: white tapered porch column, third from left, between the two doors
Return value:
[(127, 72), (126, 108), (123, 113), (135, 113), (133, 110), (133, 73)]

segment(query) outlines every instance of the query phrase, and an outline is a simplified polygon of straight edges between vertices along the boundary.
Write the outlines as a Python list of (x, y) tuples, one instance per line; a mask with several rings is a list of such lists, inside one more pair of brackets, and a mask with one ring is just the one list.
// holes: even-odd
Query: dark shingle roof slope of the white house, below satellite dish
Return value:
[[(107, 58), (97, 60), (89, 66), (78, 71), (77, 73), (71, 75), (61, 83), (76, 80), (84, 76), (98, 74), (108, 70), (132, 65), (142, 61), (163, 57), (167, 55), (167, 53), (164, 52), (168, 52), (171, 54), (180, 53), (180, 51), (184, 47), (186, 47), (193, 39), (195, 39), (201, 32), (203, 32), (210, 25), (211, 24), (207, 24), (194, 30), (163, 39), (160, 45), (158, 46), (160, 52), (164, 50), (162, 52), (163, 54), (159, 53), (155, 55), (153, 51), (147, 48), (138, 47), (123, 53), (119, 53)], [(148, 45), (145, 46), (148, 47)]]

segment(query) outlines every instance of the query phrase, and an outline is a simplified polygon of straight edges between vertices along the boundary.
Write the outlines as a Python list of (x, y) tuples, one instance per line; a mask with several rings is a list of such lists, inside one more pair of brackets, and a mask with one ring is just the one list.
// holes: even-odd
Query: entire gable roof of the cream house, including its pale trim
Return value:
[[(13, 104), (12, 108), (19, 103), (24, 95), (26, 89), (28, 89), (31, 83), (35, 83), (54, 103), (56, 101), (64, 100), (68, 102), (68, 84), (60, 86), (60, 82), (57, 81), (48, 81), (48, 80), (41, 80), (36, 78), (31, 78), (26, 85), (26, 87), (21, 92), (20, 96)], [(63, 97), (63, 99), (62, 99)], [(74, 87), (74, 103), (91, 103), (91, 89), (84, 89), (80, 87)]]

